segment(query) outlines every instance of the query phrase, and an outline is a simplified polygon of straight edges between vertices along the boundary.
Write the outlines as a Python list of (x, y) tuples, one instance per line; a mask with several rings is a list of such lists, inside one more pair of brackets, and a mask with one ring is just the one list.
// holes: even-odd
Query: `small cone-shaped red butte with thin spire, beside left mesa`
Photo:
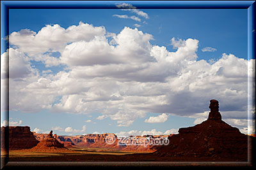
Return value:
[(47, 138), (40, 141), (35, 147), (31, 148), (33, 152), (67, 152), (63, 143), (60, 143), (56, 138), (52, 136), (52, 131), (47, 135)]

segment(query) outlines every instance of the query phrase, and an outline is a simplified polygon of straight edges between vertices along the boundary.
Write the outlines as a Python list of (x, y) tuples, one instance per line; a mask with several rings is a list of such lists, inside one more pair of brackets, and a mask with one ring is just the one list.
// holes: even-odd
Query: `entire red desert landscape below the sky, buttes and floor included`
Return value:
[[(37, 134), (28, 126), (1, 127), (1, 158), (9, 157), (8, 162), (250, 162), (255, 135), (242, 134), (223, 122), (218, 101), (211, 100), (209, 108), (207, 120), (180, 128), (179, 134), (129, 136), (126, 145), (109, 133), (58, 136), (52, 131)], [(8, 147), (4, 147), (6, 131)], [(168, 143), (147, 145), (148, 138)]]

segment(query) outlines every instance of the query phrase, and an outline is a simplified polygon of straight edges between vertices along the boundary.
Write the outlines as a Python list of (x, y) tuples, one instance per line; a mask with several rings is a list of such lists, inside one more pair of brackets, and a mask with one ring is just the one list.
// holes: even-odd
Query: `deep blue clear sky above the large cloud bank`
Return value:
[[(147, 24), (142, 25), (139, 22), (142, 25), (140, 30), (154, 36), (152, 44), (164, 45), (168, 50), (172, 50), (171, 38), (196, 38), (200, 40), (200, 48), (212, 46), (218, 49), (214, 52), (215, 57), (221, 56), (222, 53), (234, 53), (239, 58), (247, 59), (246, 9), (144, 9), (143, 11), (148, 13), (150, 19), (143, 19)], [(134, 28), (134, 24), (138, 23), (134, 20), (113, 17), (114, 14), (125, 15), (127, 12), (118, 9), (11, 9), (9, 29), (10, 33), (28, 28), (38, 32), (47, 24), (59, 24), (67, 28), (82, 21), (95, 26), (104, 25), (107, 31), (117, 34), (124, 29), (124, 26)], [(198, 59), (207, 59), (208, 53), (205, 55), (200, 48)]]

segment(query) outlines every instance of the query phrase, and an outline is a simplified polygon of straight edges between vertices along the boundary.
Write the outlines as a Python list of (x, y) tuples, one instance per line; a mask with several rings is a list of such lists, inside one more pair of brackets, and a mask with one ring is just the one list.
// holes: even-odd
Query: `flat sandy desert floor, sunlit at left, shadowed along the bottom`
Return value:
[(150, 152), (123, 152), (102, 148), (73, 148), (73, 152), (10, 150), (10, 162), (247, 162), (220, 157), (159, 157)]

